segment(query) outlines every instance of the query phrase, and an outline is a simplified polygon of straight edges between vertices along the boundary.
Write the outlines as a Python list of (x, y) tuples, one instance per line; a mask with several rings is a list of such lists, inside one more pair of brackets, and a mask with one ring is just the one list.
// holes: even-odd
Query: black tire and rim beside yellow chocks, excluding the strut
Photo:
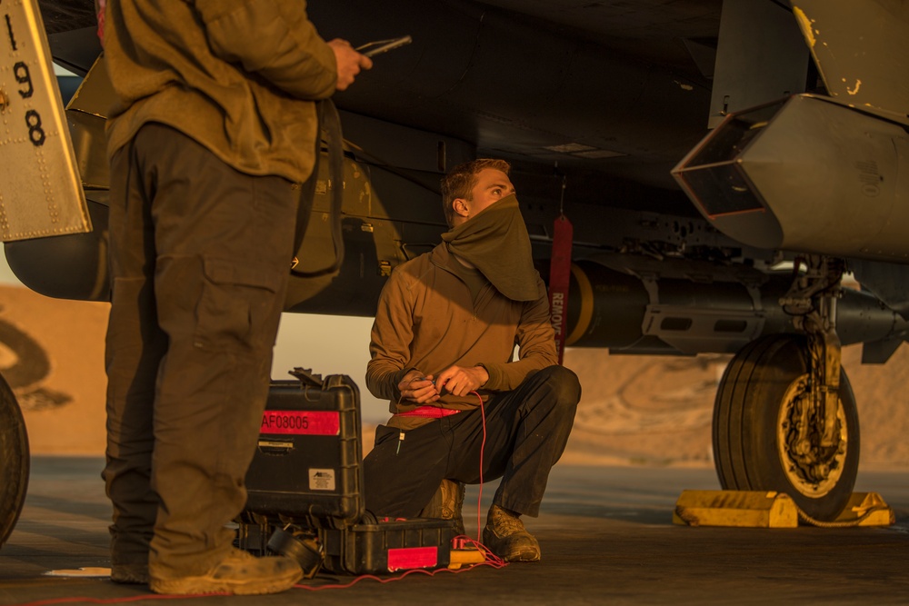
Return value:
[(789, 439), (794, 403), (807, 393), (807, 352), (804, 336), (771, 335), (735, 354), (714, 402), (714, 463), (724, 489), (785, 492), (809, 516), (829, 522), (855, 485), (858, 411), (841, 369), (838, 444), (829, 472), (812, 475), (799, 464)]

